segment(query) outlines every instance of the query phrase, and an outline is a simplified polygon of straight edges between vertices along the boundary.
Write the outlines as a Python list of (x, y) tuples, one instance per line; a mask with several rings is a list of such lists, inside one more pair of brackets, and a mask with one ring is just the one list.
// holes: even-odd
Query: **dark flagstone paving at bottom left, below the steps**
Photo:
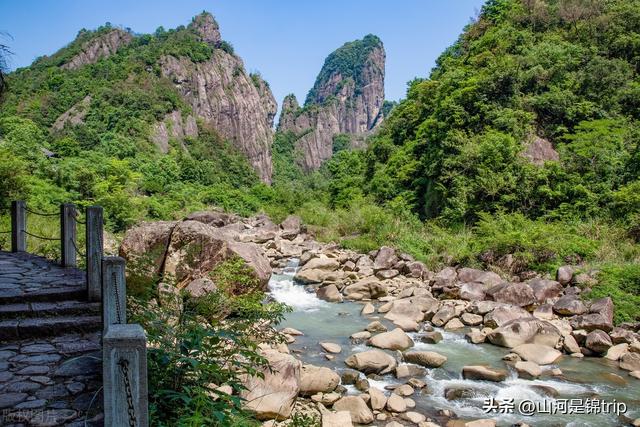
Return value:
[(0, 425), (102, 425), (99, 334), (0, 345)]

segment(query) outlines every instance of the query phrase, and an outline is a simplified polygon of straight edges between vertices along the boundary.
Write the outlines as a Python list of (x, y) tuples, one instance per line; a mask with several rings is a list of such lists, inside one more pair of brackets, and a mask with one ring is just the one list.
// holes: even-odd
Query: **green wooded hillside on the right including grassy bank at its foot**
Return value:
[[(323, 184), (298, 212), (321, 238), (393, 244), (431, 268), (598, 269), (594, 295), (614, 298), (618, 321), (640, 319), (638, 11), (638, 0), (488, 1), (388, 105), (366, 150), (313, 175)], [(541, 142), (552, 152), (533, 161)]]

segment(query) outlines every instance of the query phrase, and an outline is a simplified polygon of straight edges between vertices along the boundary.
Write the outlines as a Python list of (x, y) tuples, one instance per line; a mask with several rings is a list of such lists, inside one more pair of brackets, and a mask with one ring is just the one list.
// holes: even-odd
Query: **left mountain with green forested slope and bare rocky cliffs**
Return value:
[(82, 30), (6, 79), (3, 206), (18, 195), (100, 204), (122, 230), (234, 192), (243, 205), (271, 179), (275, 100), (208, 13), (153, 35)]

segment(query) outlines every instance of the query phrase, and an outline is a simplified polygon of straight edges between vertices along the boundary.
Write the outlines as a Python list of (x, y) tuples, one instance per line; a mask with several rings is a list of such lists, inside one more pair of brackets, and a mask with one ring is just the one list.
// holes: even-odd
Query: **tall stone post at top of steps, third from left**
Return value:
[(89, 206), (86, 210), (87, 296), (100, 301), (102, 296), (102, 208)]

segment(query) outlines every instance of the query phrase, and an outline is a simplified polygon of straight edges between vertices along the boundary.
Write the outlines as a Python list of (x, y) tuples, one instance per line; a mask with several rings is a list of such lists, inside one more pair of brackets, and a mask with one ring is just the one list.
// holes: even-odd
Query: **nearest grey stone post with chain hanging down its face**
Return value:
[(104, 425), (149, 425), (147, 341), (140, 325), (112, 325), (103, 337)]

